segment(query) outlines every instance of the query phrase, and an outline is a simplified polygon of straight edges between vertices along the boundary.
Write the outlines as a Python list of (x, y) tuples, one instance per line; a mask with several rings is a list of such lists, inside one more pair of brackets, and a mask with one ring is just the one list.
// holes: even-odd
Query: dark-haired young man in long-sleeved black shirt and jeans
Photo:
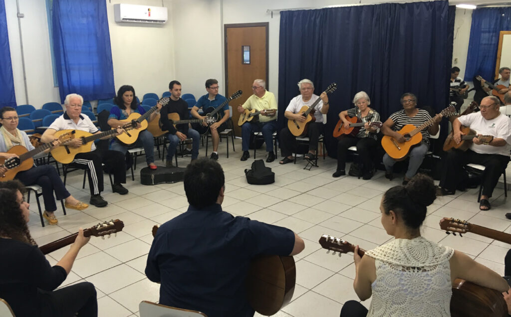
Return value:
[(167, 106), (162, 107), (160, 110), (161, 130), (169, 131), (167, 138), (169, 139), (169, 149), (167, 151), (167, 167), (172, 167), (172, 158), (176, 153), (177, 145), (180, 141), (187, 138), (192, 139), (192, 161), (196, 160), (199, 156), (199, 132), (190, 128), (188, 123), (179, 124), (174, 127), (171, 120), (168, 118), (169, 113), (177, 113), (179, 120), (187, 120), (190, 118), (188, 112), (188, 103), (181, 99), (181, 83), (173, 80), (169, 83), (170, 101)]

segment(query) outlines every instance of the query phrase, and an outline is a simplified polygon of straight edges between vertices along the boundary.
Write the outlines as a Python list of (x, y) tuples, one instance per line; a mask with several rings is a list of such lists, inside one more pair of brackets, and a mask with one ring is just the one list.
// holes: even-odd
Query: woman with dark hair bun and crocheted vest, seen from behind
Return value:
[(396, 239), (354, 260), (353, 287), (369, 311), (357, 301), (344, 304), (341, 316), (450, 316), (451, 284), (459, 278), (509, 290), (507, 282), (466, 254), (421, 236), (427, 206), (435, 200), (433, 179), (414, 176), (406, 186), (387, 190), (380, 204), (381, 222)]

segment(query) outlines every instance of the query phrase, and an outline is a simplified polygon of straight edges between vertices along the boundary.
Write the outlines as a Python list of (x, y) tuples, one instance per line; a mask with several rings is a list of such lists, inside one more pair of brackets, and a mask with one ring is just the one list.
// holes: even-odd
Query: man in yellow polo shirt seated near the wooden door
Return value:
[[(250, 153), (248, 153), (250, 135), (253, 132), (263, 132), (266, 152), (268, 152), (266, 162), (270, 163), (275, 160), (272, 135), (273, 132), (277, 130), (277, 102), (275, 101), (275, 95), (266, 90), (266, 82), (262, 79), (254, 80), (252, 91), (253, 95), (251, 95), (242, 106), (238, 106), (238, 111), (243, 113), (245, 109), (255, 109), (255, 111), (261, 111), (261, 113), (259, 114), (259, 120), (255, 117), (241, 126), (241, 144), (243, 150), (241, 160), (246, 161), (250, 157)], [(268, 111), (270, 109), (274, 111)]]

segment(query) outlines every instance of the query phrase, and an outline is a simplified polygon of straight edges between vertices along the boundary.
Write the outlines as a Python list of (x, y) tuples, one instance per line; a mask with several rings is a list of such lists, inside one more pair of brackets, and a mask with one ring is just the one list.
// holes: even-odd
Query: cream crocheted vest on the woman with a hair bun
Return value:
[(376, 264), (367, 316), (450, 316), (453, 254), (423, 237), (396, 239), (367, 251)]

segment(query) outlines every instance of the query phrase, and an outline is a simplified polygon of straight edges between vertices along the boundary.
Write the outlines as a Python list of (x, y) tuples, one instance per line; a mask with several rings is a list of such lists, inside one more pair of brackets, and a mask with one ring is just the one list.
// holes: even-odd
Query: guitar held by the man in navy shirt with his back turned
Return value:
[[(153, 237), (158, 227), (153, 227)], [(295, 282), (296, 267), (292, 256), (255, 258), (250, 263), (246, 279), (248, 302), (260, 314), (273, 315), (291, 301)]]

